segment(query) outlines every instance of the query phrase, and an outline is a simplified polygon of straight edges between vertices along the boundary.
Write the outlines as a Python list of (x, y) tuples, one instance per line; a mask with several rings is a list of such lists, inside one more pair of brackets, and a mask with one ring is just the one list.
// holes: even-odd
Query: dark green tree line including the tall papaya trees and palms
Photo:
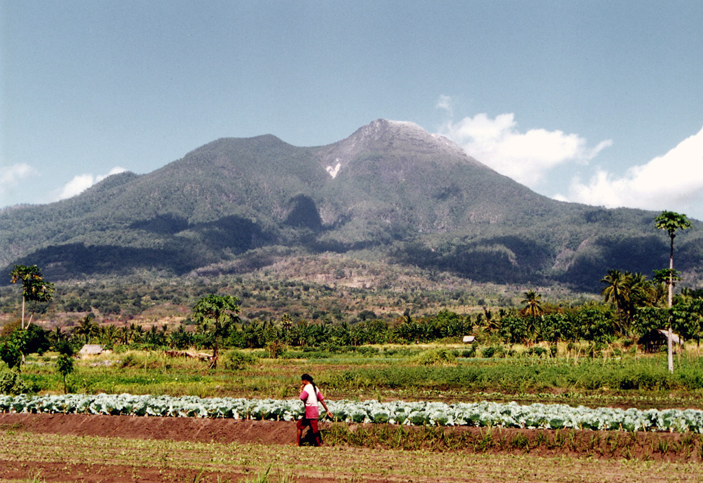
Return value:
[[(618, 338), (637, 340), (652, 329), (665, 327), (669, 334), (675, 331), (699, 344), (703, 331), (703, 289), (683, 289), (673, 297), (677, 279), (673, 270), (673, 238), (676, 230), (690, 227), (690, 223), (687, 225), (685, 216), (666, 211), (655, 221), (671, 237), (669, 269), (658, 270), (652, 280), (643, 274), (608, 270), (601, 279), (605, 284), (603, 303), (550, 305), (542, 303), (541, 295), (530, 290), (524, 293), (520, 310), (503, 308), (495, 312), (484, 307), (478, 314), (465, 315), (441, 310), (436, 315), (422, 317), (413, 317), (406, 310), (404, 315), (391, 320), (366, 310), (354, 323), (335, 323), (330, 319), (313, 322), (288, 314), (278, 318), (241, 319), (237, 297), (211, 293), (193, 305), (191, 317), (176, 329), (165, 325), (153, 325), (150, 329), (138, 324), (101, 326), (89, 313), (68, 331), (60, 328), (45, 331), (32, 324), (32, 315), (37, 303), (51, 301), (53, 284), (44, 280), (36, 265), (15, 265), (11, 278), (13, 283), (22, 283), (22, 319), (19, 327), (10, 324), (0, 334), (0, 359), (11, 368), (18, 368), (24, 356), (32, 352), (58, 350), (62, 355), (72, 355), (83, 344), (100, 343), (107, 348), (211, 349), (216, 366), (222, 348), (268, 348), (276, 353), (286, 346), (340, 348), (432, 343), (456, 341), (467, 335), (477, 336), (482, 343), (532, 345), (582, 340), (612, 343)], [(26, 326), (25, 302), (32, 304)], [(671, 341), (671, 337), (668, 339)]]

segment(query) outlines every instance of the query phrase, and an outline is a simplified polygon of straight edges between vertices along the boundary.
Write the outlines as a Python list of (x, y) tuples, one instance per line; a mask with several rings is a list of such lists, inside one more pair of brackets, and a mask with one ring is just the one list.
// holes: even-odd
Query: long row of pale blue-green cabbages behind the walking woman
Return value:
[[(502, 428), (675, 431), (703, 433), (697, 409), (587, 408), (565, 404), (515, 402), (328, 402), (336, 421), (403, 425), (472, 425)], [(243, 399), (150, 395), (0, 395), (0, 411), (14, 413), (90, 413), (132, 416), (293, 421), (302, 416), (298, 399)]]

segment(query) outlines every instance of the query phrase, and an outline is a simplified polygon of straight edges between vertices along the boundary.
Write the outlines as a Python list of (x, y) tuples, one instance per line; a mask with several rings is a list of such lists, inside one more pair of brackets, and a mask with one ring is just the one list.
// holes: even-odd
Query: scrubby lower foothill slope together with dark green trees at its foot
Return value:
[[(344, 269), (334, 267), (344, 277)], [(470, 292), (427, 286), (399, 292), (392, 287), (276, 282), (277, 276), (256, 282), (236, 277), (215, 283), (134, 279), (117, 286), (60, 284), (51, 302), (34, 305), (44, 328), (32, 324), (24, 333), (18, 330), (20, 320), (10, 319), (0, 332), (5, 341), (0, 347), (11, 343), (18, 348), (13, 352), (17, 359), (20, 353), (55, 349), (62, 341), (74, 349), (84, 343), (155, 349), (212, 349), (221, 344), (283, 352), (288, 347), (343, 350), (369, 344), (456, 343), (475, 336), (482, 345), (494, 345), (484, 349), (486, 354), (501, 357), (514, 344), (545, 343), (547, 349), (534, 350), (553, 351), (557, 343), (588, 343), (588, 350), (598, 352), (621, 340), (630, 347), (649, 333), (656, 336), (656, 329), (666, 328), (669, 321), (676, 333), (697, 344), (703, 332), (703, 290), (682, 289), (669, 310), (664, 283), (619, 270), (602, 278), (602, 300), (570, 302), (543, 300), (534, 290), (522, 293), (522, 299), (517, 294), (496, 299), (494, 293), (491, 300), (482, 296), (495, 290), (490, 286), (472, 286)], [(4, 289), (3, 312), (18, 314), (21, 298), (16, 292), (15, 287)], [(203, 315), (202, 303), (210, 299), (229, 304), (221, 319)], [(640, 343), (647, 350), (658, 347), (656, 337)]]

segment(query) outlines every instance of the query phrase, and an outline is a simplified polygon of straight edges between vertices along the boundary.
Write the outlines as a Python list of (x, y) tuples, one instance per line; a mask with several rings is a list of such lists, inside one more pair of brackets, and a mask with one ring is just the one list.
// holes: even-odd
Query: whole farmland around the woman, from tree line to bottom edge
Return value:
[[(0, 483), (703, 480), (699, 358), (671, 375), (561, 349), (237, 350), (217, 369), (111, 352), (77, 360), (66, 395), (56, 357), (31, 355), (5, 380), (27, 391), (0, 396)], [(293, 446), (304, 372), (335, 419), (321, 449)]]

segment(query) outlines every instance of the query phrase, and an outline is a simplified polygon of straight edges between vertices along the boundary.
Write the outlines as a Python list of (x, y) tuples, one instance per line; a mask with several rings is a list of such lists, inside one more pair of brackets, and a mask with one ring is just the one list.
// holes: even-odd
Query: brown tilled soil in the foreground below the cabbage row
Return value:
[[(414, 448), (420, 451), (390, 451), (389, 444), (382, 438), (371, 438), (371, 448), (355, 448), (352, 447), (353, 438), (347, 442), (343, 436), (340, 437), (363, 431), (370, 434), (378, 426), (372, 428), (364, 425), (337, 424), (337, 429), (340, 427), (343, 431), (335, 432), (335, 447), (324, 446), (320, 449), (307, 448), (301, 451), (297, 447), (284, 449), (284, 446), (295, 446), (295, 425), (292, 422), (0, 413), (0, 437), (4, 441), (4, 449), (0, 451), (0, 482), (225, 482), (252, 479), (267, 465), (276, 468), (279, 463), (289, 470), (285, 475), (272, 474), (270, 480), (273, 482), (286, 478), (288, 481), (300, 483), (409, 480), (429, 483), (494, 482), (517, 479), (524, 483), (546, 480), (654, 482), (703, 479), (703, 450), (699, 435), (594, 431), (559, 433), (546, 430), (486, 430), (465, 427), (434, 430), (435, 435), (437, 431), (444, 431), (447, 440), (453, 438), (455, 442), (465, 442), (463, 447), (455, 445), (449, 448), (442, 445), (442, 438), (427, 438), (423, 428), (403, 428), (406, 431), (404, 435), (409, 435), (418, 442)], [(333, 440), (331, 435), (334, 429), (331, 423), (321, 423), (323, 435), (330, 436), (330, 441)], [(59, 439), (61, 437), (67, 439)], [(38, 444), (37, 440), (42, 444), (39, 444), (41, 447), (35, 451), (32, 444)], [(126, 446), (120, 446), (119, 454), (116, 453), (112, 458), (110, 451), (117, 450), (105, 441), (136, 443), (129, 443), (132, 446), (126, 443)], [(138, 443), (139, 441), (141, 443)], [(148, 441), (153, 441), (153, 444), (148, 444)], [(179, 458), (172, 454), (175, 450), (170, 446), (169, 449), (159, 449), (157, 441), (184, 444), (192, 442), (201, 446), (205, 444), (208, 449), (201, 448), (197, 451), (206, 453), (202, 456), (205, 458), (202, 461), (207, 463), (202, 463), (202, 468), (198, 470), (193, 467), (196, 463), (188, 460), (193, 458), (192, 454), (197, 452), (196, 450), (184, 450), (186, 452), (181, 453), (182, 457)], [(105, 445), (104, 448), (101, 444)], [(140, 444), (143, 446), (139, 446)], [(247, 448), (253, 448), (251, 451), (254, 456), (229, 461), (227, 458), (233, 456), (226, 454), (227, 451), (231, 452), (228, 444), (248, 445)], [(93, 454), (94, 458), (72, 457), (71, 445), (75, 446), (75, 454), (86, 451), (86, 454)], [(276, 449), (277, 447), (280, 450)], [(207, 454), (210, 449), (213, 454), (224, 451), (224, 456), (210, 457)], [(245, 452), (241, 449), (238, 451)], [(141, 456), (130, 456), (131, 452)], [(427, 458), (427, 461), (422, 463), (418, 455)], [(500, 465), (507, 464), (510, 468), (506, 467), (506, 473), (496, 473), (490, 468), (484, 468), (484, 465), (477, 468), (471, 463), (474, 459), (485, 463), (482, 458), (491, 457), (498, 458)], [(373, 463), (376, 458), (378, 463)], [(520, 463), (520, 458), (527, 458), (526, 462), (531, 463)], [(564, 458), (571, 463), (563, 463)], [(225, 460), (228, 463), (219, 462)], [(299, 468), (298, 460), (303, 467)], [(647, 463), (650, 470), (640, 474), (632, 465), (628, 466), (626, 460)], [(190, 466), (186, 465), (188, 461), (191, 461)], [(394, 461), (398, 461), (397, 467)], [(508, 463), (505, 463), (506, 461)], [(511, 465), (515, 461), (518, 463), (512, 468)], [(535, 461), (541, 463), (534, 466)], [(583, 461), (591, 463), (584, 464)], [(354, 462), (363, 464), (357, 465)], [(574, 465), (581, 468), (579, 475), (570, 472)], [(681, 473), (683, 477), (678, 475), (676, 479), (666, 479), (673, 473), (659, 474), (651, 470), (651, 465), (659, 465), (654, 468), (685, 470)], [(555, 469), (550, 472), (552, 467)], [(299, 471), (291, 471), (290, 468), (299, 468)], [(456, 472), (450, 471), (451, 468), (456, 468)], [(697, 470), (691, 471), (690, 468)], [(565, 479), (561, 479), (564, 471)], [(623, 478), (627, 472), (633, 471), (633, 479)], [(612, 474), (612, 478), (603, 479), (608, 472)], [(295, 475), (294, 479), (291, 479), (292, 475)]]

